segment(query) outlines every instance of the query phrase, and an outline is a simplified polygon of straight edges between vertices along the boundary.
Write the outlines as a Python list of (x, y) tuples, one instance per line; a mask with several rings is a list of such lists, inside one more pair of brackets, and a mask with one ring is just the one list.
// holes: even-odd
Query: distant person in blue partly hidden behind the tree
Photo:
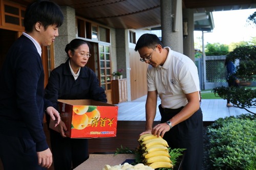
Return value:
[[(239, 87), (239, 79), (236, 77), (236, 66), (234, 63), (230, 61), (228, 58), (225, 60), (225, 66), (227, 69), (227, 76), (226, 80), (228, 83), (228, 87)], [(230, 104), (230, 100), (227, 99), (227, 107), (232, 107), (233, 105)]]

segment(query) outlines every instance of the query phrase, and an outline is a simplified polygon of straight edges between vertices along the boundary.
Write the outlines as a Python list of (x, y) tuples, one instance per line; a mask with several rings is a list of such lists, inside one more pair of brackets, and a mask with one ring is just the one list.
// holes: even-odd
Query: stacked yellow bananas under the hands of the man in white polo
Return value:
[(138, 142), (145, 165), (154, 169), (173, 167), (168, 150), (169, 145), (161, 136), (157, 137), (151, 133), (143, 134)]

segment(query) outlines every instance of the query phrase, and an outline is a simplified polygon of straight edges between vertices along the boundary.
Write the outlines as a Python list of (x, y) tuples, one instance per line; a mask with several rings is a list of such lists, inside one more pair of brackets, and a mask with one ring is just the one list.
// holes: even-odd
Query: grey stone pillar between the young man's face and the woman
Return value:
[(62, 26), (58, 29), (59, 36), (54, 42), (54, 64), (55, 67), (66, 62), (67, 54), (65, 52), (66, 45), (76, 38), (76, 17), (75, 9), (69, 6), (61, 6), (64, 15)]

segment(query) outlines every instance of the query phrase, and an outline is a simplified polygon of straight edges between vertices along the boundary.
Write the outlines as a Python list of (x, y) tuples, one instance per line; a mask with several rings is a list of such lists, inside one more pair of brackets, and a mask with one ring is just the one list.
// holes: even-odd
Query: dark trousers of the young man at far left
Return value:
[(32, 139), (0, 134), (0, 158), (5, 170), (42, 170)]

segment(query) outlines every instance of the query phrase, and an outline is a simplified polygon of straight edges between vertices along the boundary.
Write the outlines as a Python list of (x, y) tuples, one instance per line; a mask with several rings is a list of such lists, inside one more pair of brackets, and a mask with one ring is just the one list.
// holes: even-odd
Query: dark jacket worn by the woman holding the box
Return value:
[(69, 60), (52, 70), (45, 89), (45, 98), (51, 101), (50, 106), (57, 110), (58, 99), (92, 99), (107, 102), (105, 91), (99, 86), (95, 72), (89, 67), (81, 67), (80, 75), (75, 80), (69, 67)]

